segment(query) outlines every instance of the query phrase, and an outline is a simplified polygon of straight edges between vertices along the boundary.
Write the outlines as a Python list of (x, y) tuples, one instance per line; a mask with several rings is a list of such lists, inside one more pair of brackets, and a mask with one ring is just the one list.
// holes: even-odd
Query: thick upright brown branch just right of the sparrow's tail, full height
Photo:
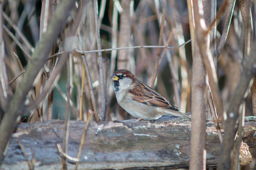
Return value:
[[(190, 35), (192, 40), (192, 82), (191, 82), (191, 145), (190, 145), (190, 169), (205, 169), (206, 154), (206, 70), (203, 65), (203, 56), (200, 53), (202, 42), (196, 33), (196, 19), (199, 19), (195, 9), (195, 1), (187, 1), (188, 16), (190, 19)], [(194, 26), (196, 25), (196, 26)], [(207, 42), (204, 42), (207, 43)]]

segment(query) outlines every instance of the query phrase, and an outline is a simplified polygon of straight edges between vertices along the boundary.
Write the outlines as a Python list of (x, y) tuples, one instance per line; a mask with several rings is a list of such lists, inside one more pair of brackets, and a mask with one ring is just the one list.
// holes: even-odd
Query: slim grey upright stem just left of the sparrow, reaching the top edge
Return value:
[[(98, 1), (94, 0), (94, 17), (95, 17), (95, 27), (96, 27), (96, 41), (97, 48), (101, 49), (100, 35), (99, 35), (99, 20), (98, 20)], [(105, 84), (104, 84), (104, 72), (103, 72), (103, 61), (102, 53), (98, 52), (99, 59), (99, 76), (100, 76), (100, 92), (101, 92), (101, 111), (100, 111), (100, 121), (103, 121), (105, 109), (106, 109), (106, 94), (105, 94)]]

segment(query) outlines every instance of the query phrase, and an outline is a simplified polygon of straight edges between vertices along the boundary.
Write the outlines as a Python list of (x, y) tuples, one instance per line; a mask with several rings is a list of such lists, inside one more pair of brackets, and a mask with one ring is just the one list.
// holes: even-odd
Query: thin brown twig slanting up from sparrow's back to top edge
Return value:
[[(165, 6), (163, 7), (163, 13), (162, 13), (162, 19), (161, 19), (161, 28), (160, 28), (160, 35), (159, 35), (159, 40), (158, 40), (158, 46), (160, 46), (162, 43), (162, 36), (163, 36), (163, 25), (165, 23), (165, 10), (166, 10), (166, 2), (165, 0)], [(160, 48), (157, 49), (157, 59), (156, 59), (156, 64), (154, 66), (154, 73), (153, 73), (153, 79), (152, 79), (152, 84), (151, 87), (154, 87), (154, 82), (157, 77), (157, 69), (158, 69), (158, 62), (159, 62), (159, 57), (160, 57)]]

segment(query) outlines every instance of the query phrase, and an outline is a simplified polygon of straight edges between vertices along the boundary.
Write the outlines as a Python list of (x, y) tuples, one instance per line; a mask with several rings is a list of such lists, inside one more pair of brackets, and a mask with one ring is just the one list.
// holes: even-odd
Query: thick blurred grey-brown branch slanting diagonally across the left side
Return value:
[(33, 57), (28, 63), (27, 72), (10, 102), (10, 107), (0, 126), (0, 165), (5, 158), (4, 152), (14, 131), (16, 118), (22, 113), (21, 108), (24, 108), (24, 102), (26, 101), (28, 92), (33, 88), (33, 82), (37, 74), (39, 74), (44, 63), (47, 61), (47, 56), (52, 45), (58, 36), (58, 32), (60, 32), (64, 25), (66, 18), (68, 18), (74, 2), (75, 0), (62, 1), (56, 9), (56, 16), (52, 19), (48, 31), (42, 37), (39, 45), (37, 45), (35, 53), (33, 53)]

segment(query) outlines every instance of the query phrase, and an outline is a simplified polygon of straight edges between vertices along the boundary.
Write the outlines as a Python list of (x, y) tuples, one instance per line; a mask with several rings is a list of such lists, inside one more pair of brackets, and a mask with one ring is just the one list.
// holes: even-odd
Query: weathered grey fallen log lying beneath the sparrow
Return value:
[[(169, 117), (167, 117), (168, 119)], [(255, 147), (256, 118), (246, 118), (244, 141)], [(68, 154), (76, 157), (83, 121), (70, 121)], [(28, 169), (28, 156), (35, 169), (60, 169), (56, 144), (62, 144), (63, 121), (18, 125), (9, 143), (3, 169)], [(215, 167), (221, 145), (213, 122), (207, 122), (207, 166)], [(174, 118), (168, 121), (91, 122), (87, 131), (78, 169), (153, 169), (188, 168), (191, 121)], [(24, 153), (19, 142), (25, 148)], [(251, 160), (244, 143), (243, 164)], [(73, 169), (74, 163), (68, 163)]]

